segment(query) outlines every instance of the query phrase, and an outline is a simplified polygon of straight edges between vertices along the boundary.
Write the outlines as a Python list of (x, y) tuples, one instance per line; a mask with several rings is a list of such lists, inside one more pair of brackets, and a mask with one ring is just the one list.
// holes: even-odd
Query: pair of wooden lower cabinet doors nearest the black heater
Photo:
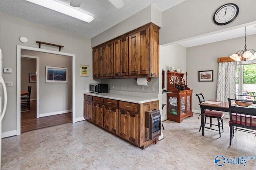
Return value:
[(120, 137), (138, 145), (138, 113), (119, 109), (118, 131)]

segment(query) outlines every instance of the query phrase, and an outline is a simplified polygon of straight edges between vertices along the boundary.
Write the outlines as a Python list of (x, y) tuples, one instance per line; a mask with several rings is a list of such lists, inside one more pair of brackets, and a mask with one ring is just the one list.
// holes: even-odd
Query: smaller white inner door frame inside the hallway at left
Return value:
[(37, 56), (32, 56), (32, 55), (20, 55), (20, 58), (24, 57), (24, 58), (29, 58), (29, 59), (36, 59), (36, 118), (39, 118), (39, 57)]

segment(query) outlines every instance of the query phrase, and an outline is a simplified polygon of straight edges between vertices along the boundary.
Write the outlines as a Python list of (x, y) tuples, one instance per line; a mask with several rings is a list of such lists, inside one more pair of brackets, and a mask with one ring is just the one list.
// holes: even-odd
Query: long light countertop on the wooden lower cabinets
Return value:
[(118, 90), (110, 90), (109, 93), (99, 93), (99, 94), (84, 92), (84, 94), (90, 95), (90, 96), (113, 99), (113, 100), (120, 100), (124, 102), (137, 103), (137, 104), (159, 100), (159, 95), (155, 93), (125, 92), (125, 91), (118, 91)]

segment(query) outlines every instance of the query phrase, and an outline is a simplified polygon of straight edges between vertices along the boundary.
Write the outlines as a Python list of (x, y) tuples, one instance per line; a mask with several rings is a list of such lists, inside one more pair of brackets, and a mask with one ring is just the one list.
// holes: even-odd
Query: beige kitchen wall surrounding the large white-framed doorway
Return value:
[[(28, 38), (28, 43), (21, 43), (19, 37)], [(13, 86), (7, 88), (8, 104), (6, 115), (2, 121), (2, 132), (8, 134), (16, 134), (16, 89), (17, 89), (17, 45), (38, 48), (36, 41), (44, 41), (53, 44), (64, 45), (61, 49), (63, 53), (76, 55), (76, 117), (83, 117), (83, 90), (89, 89), (89, 83), (92, 80), (92, 48), (91, 39), (77, 36), (66, 31), (55, 29), (52, 27), (32, 23), (7, 16), (0, 15), (0, 48), (3, 53), (3, 68), (12, 68), (12, 73), (3, 73), (5, 81), (13, 81)], [(41, 49), (58, 51), (57, 47), (49, 45), (41, 45)], [(50, 59), (51, 61), (51, 59)], [(88, 77), (80, 76), (80, 64), (89, 65), (90, 74)], [(20, 71), (20, 70), (19, 70)], [(9, 133), (10, 132), (10, 133)]]

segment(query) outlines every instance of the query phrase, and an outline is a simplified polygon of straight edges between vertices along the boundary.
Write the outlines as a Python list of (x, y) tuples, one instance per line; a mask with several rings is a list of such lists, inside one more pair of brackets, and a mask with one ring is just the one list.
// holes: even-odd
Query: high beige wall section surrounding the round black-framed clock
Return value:
[[(212, 20), (214, 12), (227, 3), (237, 4), (239, 14), (227, 25), (216, 25)], [(160, 45), (255, 22), (255, 6), (255, 0), (186, 0), (162, 12)]]

